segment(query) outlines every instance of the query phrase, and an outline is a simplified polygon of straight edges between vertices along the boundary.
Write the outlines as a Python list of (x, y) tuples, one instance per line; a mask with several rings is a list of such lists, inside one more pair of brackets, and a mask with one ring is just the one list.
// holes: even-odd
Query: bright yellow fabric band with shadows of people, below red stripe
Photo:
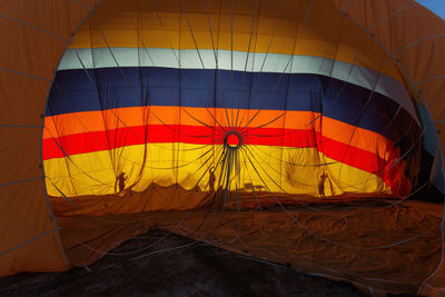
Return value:
[[(208, 154), (200, 158), (206, 151)], [(216, 154), (211, 157), (214, 151)], [(119, 172), (126, 174), (126, 185), (134, 185), (135, 191), (144, 191), (151, 182), (160, 186), (178, 182), (186, 189), (198, 184), (205, 189), (209, 178), (206, 170), (209, 166), (216, 166), (220, 151), (220, 146), (150, 143), (75, 155), (70, 160), (50, 159), (44, 161), (47, 189), (48, 194), (55, 197), (61, 196), (57, 188), (67, 197), (115, 194), (116, 176)], [(267, 190), (265, 182), (274, 192), (318, 195), (319, 177), (323, 170), (326, 170), (335, 195), (390, 192), (377, 176), (329, 159), (315, 148), (248, 146), (248, 151), (239, 154), (240, 188), (263, 186), (263, 190)], [(142, 164), (145, 152), (146, 162)], [(246, 156), (249, 156), (256, 169)], [(202, 179), (198, 182), (201, 176)], [(219, 176), (220, 171), (217, 170), (216, 185)], [(235, 178), (231, 182), (233, 189), (236, 187), (236, 180)], [(328, 181), (325, 191), (326, 195), (332, 194)]]

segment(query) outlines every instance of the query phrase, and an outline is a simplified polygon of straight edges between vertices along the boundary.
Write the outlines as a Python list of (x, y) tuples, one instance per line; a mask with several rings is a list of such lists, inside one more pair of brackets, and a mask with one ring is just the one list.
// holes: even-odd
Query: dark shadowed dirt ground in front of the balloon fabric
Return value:
[[(353, 285), (245, 258), (151, 229), (88, 268), (0, 279), (1, 296), (364, 296)], [(139, 250), (139, 251), (138, 251)]]

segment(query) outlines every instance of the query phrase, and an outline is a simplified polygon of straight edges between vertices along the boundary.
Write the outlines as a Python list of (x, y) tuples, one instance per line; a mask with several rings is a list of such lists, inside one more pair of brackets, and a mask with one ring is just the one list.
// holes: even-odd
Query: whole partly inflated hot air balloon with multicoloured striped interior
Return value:
[(415, 1), (20, 0), (1, 21), (0, 275), (156, 225), (443, 290), (445, 27)]

